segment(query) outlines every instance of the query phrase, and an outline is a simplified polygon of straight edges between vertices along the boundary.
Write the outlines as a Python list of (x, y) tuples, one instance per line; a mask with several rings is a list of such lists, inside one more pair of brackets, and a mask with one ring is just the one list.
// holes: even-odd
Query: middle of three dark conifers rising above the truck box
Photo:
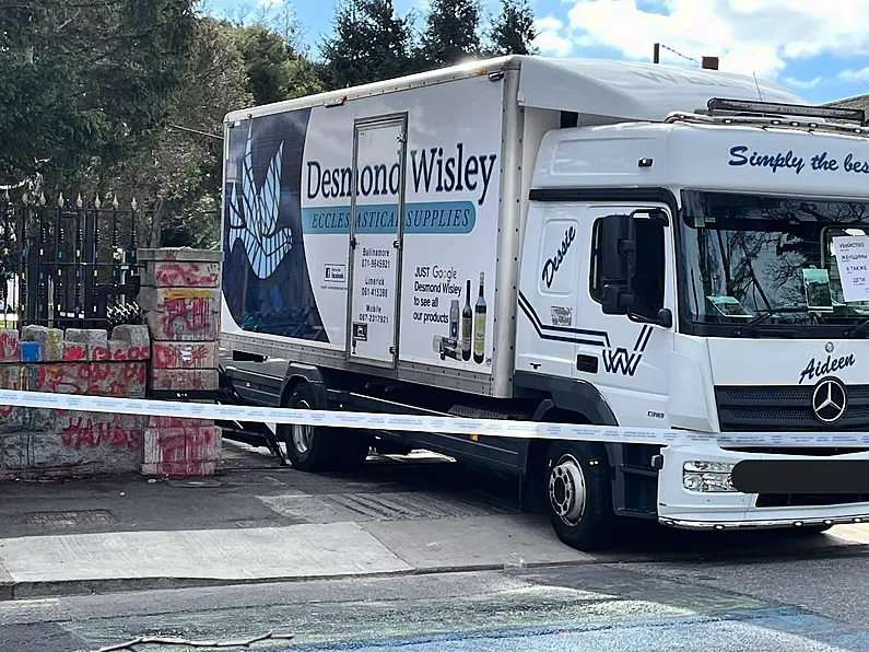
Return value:
[(454, 66), (482, 54), (479, 0), (432, 0), (419, 55), (427, 68)]

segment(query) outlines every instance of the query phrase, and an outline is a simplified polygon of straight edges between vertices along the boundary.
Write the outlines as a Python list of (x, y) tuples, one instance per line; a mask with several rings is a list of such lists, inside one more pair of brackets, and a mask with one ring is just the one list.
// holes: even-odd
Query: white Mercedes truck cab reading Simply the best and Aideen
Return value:
[[(776, 110), (713, 100), (706, 115), (543, 138), (522, 245), (519, 384), (548, 385), (604, 426), (745, 441), (866, 429), (864, 121)], [(606, 488), (587, 477), (587, 447), (585, 459), (549, 459), (562, 538), (585, 540), (604, 489), (616, 513), (686, 528), (818, 531), (869, 515), (869, 486), (744, 493), (731, 478), (743, 459), (867, 459), (866, 450), (602, 446), (614, 471)]]

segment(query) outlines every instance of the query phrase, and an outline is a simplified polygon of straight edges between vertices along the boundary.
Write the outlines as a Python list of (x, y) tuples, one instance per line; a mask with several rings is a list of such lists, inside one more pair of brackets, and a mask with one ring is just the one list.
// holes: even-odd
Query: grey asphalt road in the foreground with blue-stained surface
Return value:
[(600, 563), (7, 602), (0, 650), (90, 652), (140, 636), (275, 631), (294, 639), (251, 649), (865, 651), (868, 574), (862, 556)]

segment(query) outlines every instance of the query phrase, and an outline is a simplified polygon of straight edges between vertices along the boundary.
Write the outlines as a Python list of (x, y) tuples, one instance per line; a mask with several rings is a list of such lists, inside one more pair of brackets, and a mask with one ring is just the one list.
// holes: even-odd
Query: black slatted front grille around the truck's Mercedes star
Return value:
[(864, 430), (869, 426), (869, 385), (850, 385), (845, 416), (830, 427), (814, 418), (814, 387), (716, 387), (724, 432)]

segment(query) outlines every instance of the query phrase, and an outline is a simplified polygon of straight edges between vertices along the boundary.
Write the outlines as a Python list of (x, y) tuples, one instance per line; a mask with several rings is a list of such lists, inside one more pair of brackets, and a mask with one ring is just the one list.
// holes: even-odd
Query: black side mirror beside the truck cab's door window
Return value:
[(636, 265), (636, 232), (632, 216), (607, 216), (602, 219), (598, 255), (603, 313), (630, 314)]

